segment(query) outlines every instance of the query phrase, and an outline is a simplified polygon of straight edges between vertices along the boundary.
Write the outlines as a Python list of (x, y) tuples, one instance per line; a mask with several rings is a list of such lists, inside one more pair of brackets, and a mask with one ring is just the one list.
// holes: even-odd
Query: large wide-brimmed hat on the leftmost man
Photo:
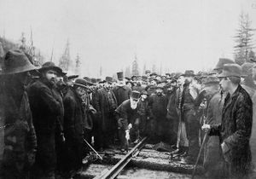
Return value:
[(33, 66), (27, 56), (20, 50), (9, 50), (3, 60), (2, 71), (0, 74), (15, 74), (29, 72), (38, 69)]

